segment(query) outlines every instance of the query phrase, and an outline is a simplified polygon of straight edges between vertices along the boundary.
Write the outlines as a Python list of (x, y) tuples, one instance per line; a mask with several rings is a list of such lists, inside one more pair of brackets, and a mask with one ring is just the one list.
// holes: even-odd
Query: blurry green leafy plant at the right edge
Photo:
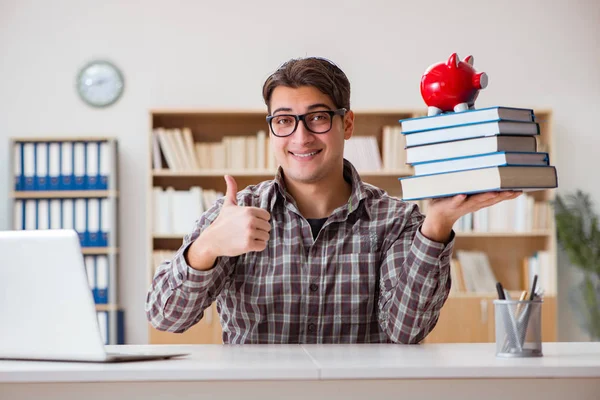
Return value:
[(581, 310), (583, 328), (600, 340), (600, 227), (587, 193), (557, 196), (554, 201), (557, 240), (569, 261), (584, 275), (579, 291), (572, 293)]

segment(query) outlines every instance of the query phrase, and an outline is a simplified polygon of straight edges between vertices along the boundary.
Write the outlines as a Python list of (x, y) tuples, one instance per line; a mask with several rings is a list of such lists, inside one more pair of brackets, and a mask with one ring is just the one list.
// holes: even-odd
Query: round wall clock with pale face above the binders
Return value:
[(123, 75), (108, 61), (93, 61), (77, 76), (79, 96), (93, 107), (107, 107), (116, 102), (125, 88)]

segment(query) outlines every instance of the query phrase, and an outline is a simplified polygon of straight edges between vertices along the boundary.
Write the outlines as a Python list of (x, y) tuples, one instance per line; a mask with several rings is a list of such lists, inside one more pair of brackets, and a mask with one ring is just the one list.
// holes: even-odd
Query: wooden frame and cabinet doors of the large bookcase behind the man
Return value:
[[(375, 138), (380, 155), (385, 158), (386, 127), (398, 128), (398, 120), (422, 116), (423, 110), (354, 110), (354, 136), (372, 136)], [(538, 138), (538, 151), (547, 151), (551, 163), (554, 160), (551, 136), (551, 111), (535, 110), (540, 123), (541, 134)], [(184, 168), (173, 171), (167, 167), (164, 154), (155, 150), (154, 131), (157, 128), (166, 130), (189, 128), (190, 138), (196, 143), (218, 143), (224, 138), (240, 135), (254, 136), (258, 131), (267, 132), (264, 110), (168, 110), (157, 109), (150, 111), (150, 148), (149, 148), (149, 178), (148, 178), (148, 220), (155, 221), (153, 210), (156, 206), (154, 188), (174, 191), (186, 191), (191, 187), (200, 186), (212, 189), (217, 193), (225, 192), (224, 174), (235, 177), (240, 190), (247, 185), (256, 184), (263, 180), (272, 179), (276, 170), (274, 164), (258, 168)], [(401, 136), (401, 135), (397, 135)], [(268, 135), (267, 135), (268, 137)], [(189, 142), (188, 142), (189, 143)], [(268, 142), (267, 142), (268, 143)], [(400, 144), (401, 146), (401, 144)], [(160, 147), (160, 146), (158, 146)], [(398, 147), (398, 144), (395, 145)], [(198, 156), (198, 154), (196, 154)], [(158, 156), (158, 160), (157, 160)], [(383, 188), (392, 196), (401, 196), (398, 178), (412, 174), (412, 169), (403, 164), (402, 152), (394, 158), (401, 165), (383, 164), (379, 170), (360, 170), (362, 179)], [(389, 159), (389, 156), (387, 157)], [(160, 162), (160, 164), (157, 164)], [(158, 168), (159, 167), (159, 168)], [(527, 194), (535, 201), (547, 203), (553, 198), (552, 191), (540, 191)], [(424, 212), (427, 203), (419, 204)], [(162, 208), (161, 208), (162, 209)], [(549, 212), (549, 210), (546, 210)], [(153, 222), (154, 226), (156, 222)], [(188, 221), (189, 230), (193, 221)], [(456, 235), (456, 247), (460, 250), (479, 250), (487, 254), (492, 270), (505, 287), (518, 297), (520, 290), (525, 288), (523, 280), (523, 260), (531, 257), (537, 251), (547, 251), (550, 254), (552, 274), (556, 275), (556, 238), (554, 222), (548, 217), (547, 226), (527, 231), (498, 230), (498, 231), (461, 231)], [(185, 232), (187, 233), (187, 232)], [(150, 229), (148, 233), (148, 248), (150, 249), (150, 265), (148, 284), (150, 284), (155, 268), (162, 259), (167, 259), (180, 246), (185, 233), (156, 232)], [(162, 252), (162, 253), (161, 253)], [(449, 297), (438, 325), (428, 336), (426, 342), (490, 342), (493, 336), (493, 300), (496, 294), (484, 293), (452, 293)], [(545, 294), (543, 314), (543, 339), (556, 339), (556, 295), (555, 292)], [(219, 318), (212, 306), (209, 317), (182, 334), (157, 331), (149, 326), (150, 343), (153, 344), (194, 344), (221, 343)], [(468, 328), (466, 328), (468, 327)]]

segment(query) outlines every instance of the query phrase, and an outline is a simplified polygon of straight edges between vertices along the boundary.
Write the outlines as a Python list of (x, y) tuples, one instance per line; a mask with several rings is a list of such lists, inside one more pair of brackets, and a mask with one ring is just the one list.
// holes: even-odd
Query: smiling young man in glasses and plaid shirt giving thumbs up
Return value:
[(224, 343), (418, 343), (450, 289), (452, 226), (518, 193), (432, 201), (427, 216), (361, 181), (343, 158), (350, 83), (333, 63), (291, 60), (264, 84), (279, 171), (227, 193), (148, 292), (160, 330), (183, 332), (217, 301)]

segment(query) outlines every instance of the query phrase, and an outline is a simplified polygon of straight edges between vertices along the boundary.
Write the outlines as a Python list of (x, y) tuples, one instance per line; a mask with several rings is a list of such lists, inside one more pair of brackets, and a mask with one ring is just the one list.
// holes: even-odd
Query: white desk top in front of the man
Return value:
[[(123, 346), (135, 350), (158, 346)], [(164, 346), (179, 359), (120, 364), (0, 360), (0, 399), (599, 399), (600, 343)]]

